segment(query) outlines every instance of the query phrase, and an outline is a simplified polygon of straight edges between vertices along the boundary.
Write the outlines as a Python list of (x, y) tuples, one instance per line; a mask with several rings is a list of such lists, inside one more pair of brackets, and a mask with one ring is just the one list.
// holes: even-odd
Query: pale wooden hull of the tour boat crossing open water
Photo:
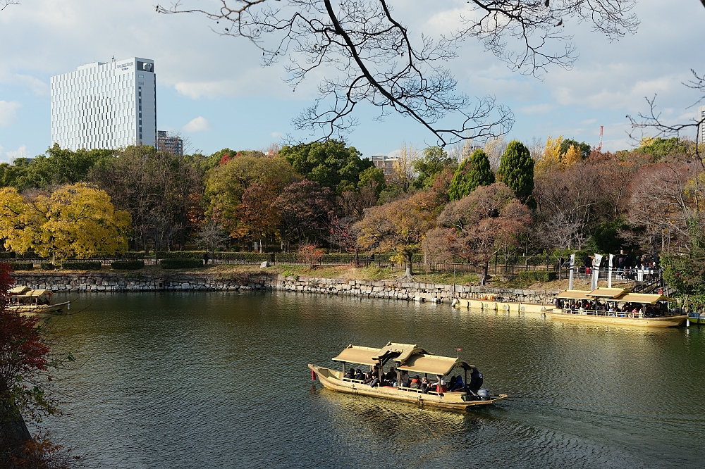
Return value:
[(378, 397), (381, 399), (389, 399), (391, 401), (402, 401), (410, 404), (418, 404), (420, 406), (433, 406), (440, 408), (453, 409), (456, 411), (464, 411), (469, 408), (478, 406), (487, 406), (496, 401), (507, 399), (507, 394), (500, 394), (488, 401), (463, 401), (463, 392), (446, 392), (442, 396), (436, 393), (423, 394), (422, 392), (403, 391), (396, 387), (369, 387), (367, 384), (346, 382), (343, 381), (340, 371), (331, 370), (322, 366), (311, 365), (309, 368), (316, 373), (318, 380), (326, 389), (332, 391), (346, 392), (348, 394), (357, 394), (360, 396)]

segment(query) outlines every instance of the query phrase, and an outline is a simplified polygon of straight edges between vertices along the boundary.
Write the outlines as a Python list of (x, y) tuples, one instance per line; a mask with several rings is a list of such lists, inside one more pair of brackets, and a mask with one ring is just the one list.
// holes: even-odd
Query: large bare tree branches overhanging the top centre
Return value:
[[(550, 8), (546, 0), (474, 0), (462, 30), (431, 39), (410, 34), (388, 0), (217, 0), (219, 8), (212, 10), (188, 8), (190, 1), (157, 11), (206, 15), (218, 34), (255, 44), (263, 65), (287, 56), (294, 90), (314, 70), (334, 72), (321, 80), (319, 97), (295, 118), (295, 127), (322, 131), (322, 139), (342, 135), (357, 125), (354, 111), (365, 101), (380, 109), (377, 119), (396, 111), (416, 120), (441, 146), (503, 135), (514, 123), (494, 97), (458, 92), (443, 63), (456, 57), (461, 41), (476, 37), (513, 68), (536, 75), (551, 63), (570, 66), (575, 59), (570, 36), (561, 32), (563, 18), (590, 20), (610, 38), (638, 24), (629, 13), (635, 0), (553, 0)], [(518, 39), (520, 51), (507, 49), (505, 37)], [(562, 44), (557, 53), (544, 51), (553, 43)], [(446, 117), (460, 121), (441, 125)]]

